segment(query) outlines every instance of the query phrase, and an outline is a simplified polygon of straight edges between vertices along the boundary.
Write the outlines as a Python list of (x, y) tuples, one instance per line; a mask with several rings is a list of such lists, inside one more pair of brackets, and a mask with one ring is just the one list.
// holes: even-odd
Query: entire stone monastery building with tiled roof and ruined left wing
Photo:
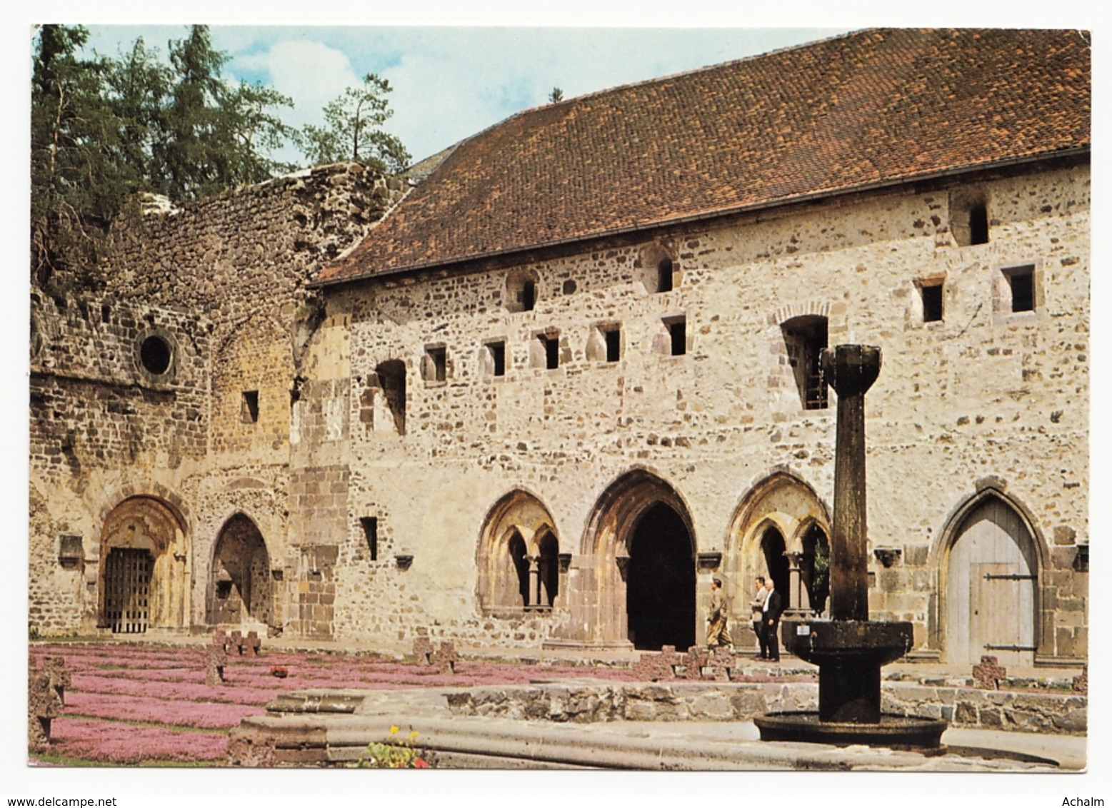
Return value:
[(717, 575), (749, 641), (861, 342), (872, 616), (1076, 664), (1089, 200), (1084, 33), (868, 30), (121, 218), (32, 289), (31, 627), (684, 648)]

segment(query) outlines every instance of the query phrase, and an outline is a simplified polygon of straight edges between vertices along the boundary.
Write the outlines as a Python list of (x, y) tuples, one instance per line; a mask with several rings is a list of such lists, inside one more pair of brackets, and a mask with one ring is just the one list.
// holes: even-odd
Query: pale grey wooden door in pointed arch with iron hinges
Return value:
[(946, 570), (946, 661), (1034, 665), (1034, 543), (1004, 501), (991, 498), (963, 522)]

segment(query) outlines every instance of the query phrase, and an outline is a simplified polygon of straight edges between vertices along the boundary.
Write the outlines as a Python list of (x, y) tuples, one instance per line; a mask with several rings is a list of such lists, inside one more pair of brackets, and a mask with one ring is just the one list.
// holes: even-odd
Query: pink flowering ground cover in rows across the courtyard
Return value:
[[(205, 684), (205, 647), (136, 642), (36, 644), (30, 657), (61, 656), (70, 670), (50, 746), (33, 762), (100, 766), (222, 766), (228, 730), (266, 712), (279, 694), (306, 688), (367, 690), (522, 685), (533, 679), (629, 680), (628, 670), (461, 660), (455, 674), (377, 655), (268, 651), (228, 655), (225, 681)], [(287, 670), (276, 678), (271, 669)]]

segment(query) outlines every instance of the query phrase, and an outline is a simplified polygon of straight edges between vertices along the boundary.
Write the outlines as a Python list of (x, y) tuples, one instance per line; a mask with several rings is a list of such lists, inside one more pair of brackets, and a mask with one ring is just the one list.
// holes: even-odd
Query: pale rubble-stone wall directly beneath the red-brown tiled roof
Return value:
[[(464, 641), (519, 638), (475, 606), (488, 511), (512, 490), (535, 495), (573, 557), (569, 580), (586, 578), (605, 563), (592, 556), (603, 495), (635, 469), (677, 493), (697, 552), (723, 553), (735, 621), (747, 622), (746, 581), (764, 570), (754, 537), (738, 535), (746, 498), (786, 472), (827, 512), (832, 501), (833, 396), (827, 409), (803, 409), (782, 329), (820, 316), (831, 345), (884, 353), (866, 400), (870, 549), (901, 552), (891, 567), (871, 555), (874, 615), (912, 620), (920, 649), (944, 645), (937, 592), (953, 537), (943, 533), (993, 485), (1030, 515), (1043, 601), (1063, 603), (1040, 618), (1040, 654), (1084, 656), (1088, 576), (1072, 563), (1088, 542), (1088, 169), (977, 184), (991, 199), (985, 245), (955, 245), (953, 189), (937, 188), (689, 226), (522, 267), (328, 290), (329, 311), (350, 317), (341, 355), (353, 388), (339, 429), (350, 441), (353, 519), (339, 553), (357, 559), (358, 518), (377, 517), (415, 557), (405, 571), (342, 565), (337, 632), (361, 634), (374, 614), (376, 625), (397, 615)], [(674, 257), (674, 289), (653, 292), (662, 250)], [(1035, 267), (1037, 305), (1005, 311), (1002, 270), (1023, 265)], [(507, 310), (515, 270), (537, 279), (533, 310)], [(945, 315), (924, 322), (917, 283), (939, 277)], [(667, 328), (678, 317), (686, 352), (672, 356)], [(614, 328), (620, 358), (610, 362), (599, 332)], [(542, 336), (557, 341), (556, 369), (545, 367)], [(485, 347), (495, 342), (503, 376)], [(390, 360), (406, 371), (404, 436), (376, 405), (376, 371)], [(701, 571), (704, 599), (709, 573)], [(537, 619), (550, 631), (577, 618), (557, 609)]]

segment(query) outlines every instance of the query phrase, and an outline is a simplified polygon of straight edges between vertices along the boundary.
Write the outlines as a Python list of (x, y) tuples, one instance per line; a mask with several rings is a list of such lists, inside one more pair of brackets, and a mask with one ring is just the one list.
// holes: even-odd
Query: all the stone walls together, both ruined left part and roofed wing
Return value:
[[(950, 201), (970, 187), (991, 238), (960, 247)], [(945, 657), (950, 548), (991, 493), (1032, 532), (1037, 656), (1088, 654), (1086, 166), (307, 289), (403, 190), (334, 166), (122, 221), (103, 291), (33, 297), (40, 630), (95, 625), (105, 519), (149, 496), (180, 503), (195, 627), (216, 543), (242, 515), (266, 543), (276, 629), (620, 646), (622, 559), (662, 501), (699, 559), (696, 636), (719, 575), (747, 638), (762, 531), (798, 549), (830, 528), (835, 401), (804, 408), (792, 336), (823, 322), (828, 345), (884, 356), (866, 399), (873, 615), (911, 620), (916, 650)], [(1004, 270), (1026, 266), (1033, 310), (1013, 312)], [(922, 289), (939, 282), (943, 316), (924, 321)], [(143, 362), (150, 337), (165, 373)], [(536, 516), (524, 533), (557, 540), (552, 609), (478, 597), (516, 591), (489, 580), (508, 557), (483, 563), (506, 547), (493, 531), (507, 498)], [(63, 562), (63, 536), (85, 559)]]

